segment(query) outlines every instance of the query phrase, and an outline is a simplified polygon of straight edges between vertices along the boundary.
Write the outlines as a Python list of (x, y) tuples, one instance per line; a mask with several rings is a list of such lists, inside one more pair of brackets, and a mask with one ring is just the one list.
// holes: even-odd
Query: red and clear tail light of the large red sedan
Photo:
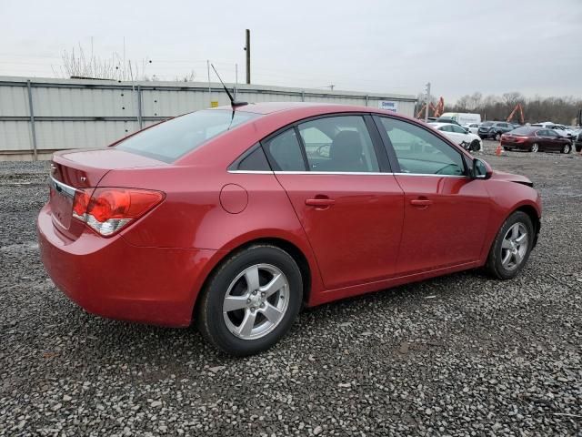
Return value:
[[(91, 190), (93, 188), (90, 188)], [(100, 235), (109, 237), (139, 219), (164, 199), (164, 193), (137, 188), (77, 189), (73, 217)]]

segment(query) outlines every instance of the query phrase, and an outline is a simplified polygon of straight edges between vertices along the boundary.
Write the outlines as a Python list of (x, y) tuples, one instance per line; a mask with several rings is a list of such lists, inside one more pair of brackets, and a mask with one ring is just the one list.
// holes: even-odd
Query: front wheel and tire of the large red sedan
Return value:
[(534, 232), (534, 225), (525, 212), (511, 214), (489, 250), (487, 271), (497, 279), (515, 278), (529, 258)]

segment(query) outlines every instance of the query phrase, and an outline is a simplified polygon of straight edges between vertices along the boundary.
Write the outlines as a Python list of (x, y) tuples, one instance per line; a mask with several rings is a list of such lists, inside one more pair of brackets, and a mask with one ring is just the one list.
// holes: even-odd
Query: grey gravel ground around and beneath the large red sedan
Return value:
[(0, 163), (0, 435), (582, 435), (582, 157), (505, 152), (542, 192), (511, 281), (480, 271), (305, 310), (260, 356), (103, 320), (47, 279), (47, 163)]

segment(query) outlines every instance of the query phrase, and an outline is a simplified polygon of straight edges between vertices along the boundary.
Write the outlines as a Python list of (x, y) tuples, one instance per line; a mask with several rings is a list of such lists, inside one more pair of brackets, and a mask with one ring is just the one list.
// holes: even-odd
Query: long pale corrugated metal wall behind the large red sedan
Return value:
[[(413, 116), (416, 97), (322, 91), (279, 86), (238, 86), (249, 102), (306, 101), (378, 107), (397, 102), (397, 112)], [(227, 105), (219, 84), (115, 82), (0, 76), (0, 160), (50, 158), (64, 148), (104, 147), (167, 117)], [(31, 117), (31, 106), (34, 115)]]

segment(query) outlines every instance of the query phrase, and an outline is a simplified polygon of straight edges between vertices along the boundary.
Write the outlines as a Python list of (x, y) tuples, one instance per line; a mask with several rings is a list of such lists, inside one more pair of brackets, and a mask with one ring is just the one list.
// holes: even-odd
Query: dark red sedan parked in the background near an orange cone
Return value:
[(559, 151), (570, 153), (572, 142), (555, 130), (545, 127), (518, 127), (501, 136), (501, 147), (506, 150)]

